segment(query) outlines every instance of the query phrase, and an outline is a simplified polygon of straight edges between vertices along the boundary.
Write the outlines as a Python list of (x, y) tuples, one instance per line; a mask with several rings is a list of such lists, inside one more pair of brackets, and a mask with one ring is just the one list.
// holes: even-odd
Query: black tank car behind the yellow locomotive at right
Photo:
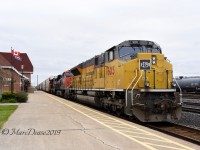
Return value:
[[(200, 77), (177, 77), (177, 83), (179, 84), (183, 92), (200, 92)], [(179, 89), (177, 89), (179, 90)]]

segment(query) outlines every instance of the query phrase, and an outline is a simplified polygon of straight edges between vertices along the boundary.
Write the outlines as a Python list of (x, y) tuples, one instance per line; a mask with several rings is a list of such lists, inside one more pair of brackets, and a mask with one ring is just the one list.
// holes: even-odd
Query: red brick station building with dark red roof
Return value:
[(21, 53), (20, 56), (21, 61), (16, 60), (11, 53), (0, 52), (0, 77), (2, 77), (3, 92), (27, 90), (28, 83), (31, 83), (33, 65), (26, 53)]

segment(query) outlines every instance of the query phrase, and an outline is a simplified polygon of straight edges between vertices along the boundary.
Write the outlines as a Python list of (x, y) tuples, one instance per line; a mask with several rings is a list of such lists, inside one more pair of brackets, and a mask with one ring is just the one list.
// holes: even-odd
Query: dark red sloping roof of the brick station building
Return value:
[(23, 72), (33, 73), (33, 65), (26, 53), (20, 53), (21, 61), (16, 60), (11, 53), (0, 52), (0, 66), (13, 66), (22, 72), (21, 65), (24, 65)]

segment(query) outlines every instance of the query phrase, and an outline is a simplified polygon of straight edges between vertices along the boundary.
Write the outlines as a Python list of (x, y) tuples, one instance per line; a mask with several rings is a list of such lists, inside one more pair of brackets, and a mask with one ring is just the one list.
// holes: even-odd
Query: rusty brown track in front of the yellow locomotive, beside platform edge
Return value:
[(145, 125), (151, 129), (166, 133), (168, 135), (189, 141), (191, 143), (200, 145), (200, 130), (165, 122), (165, 123), (149, 123)]

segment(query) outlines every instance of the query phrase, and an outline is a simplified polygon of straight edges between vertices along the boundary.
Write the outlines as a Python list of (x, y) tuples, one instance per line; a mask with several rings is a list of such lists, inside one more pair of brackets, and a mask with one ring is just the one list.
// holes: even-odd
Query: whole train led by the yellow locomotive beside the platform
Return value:
[(177, 120), (172, 64), (154, 42), (124, 41), (39, 85), (39, 89), (142, 122)]

